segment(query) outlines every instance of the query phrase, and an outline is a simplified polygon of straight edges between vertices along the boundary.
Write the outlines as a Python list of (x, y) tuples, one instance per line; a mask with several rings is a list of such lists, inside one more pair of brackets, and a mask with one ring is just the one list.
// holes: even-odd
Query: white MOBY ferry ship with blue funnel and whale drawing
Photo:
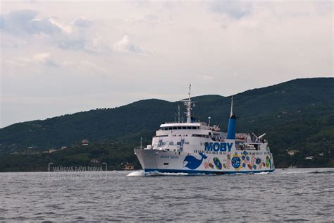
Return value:
[[(231, 100), (228, 132), (218, 125), (193, 121), (194, 102), (182, 100), (187, 109), (187, 122), (163, 123), (151, 145), (135, 148), (144, 173), (186, 174), (254, 174), (273, 172), (273, 155), (264, 139), (266, 133), (235, 133), (236, 116)], [(180, 114), (180, 112), (179, 112)]]

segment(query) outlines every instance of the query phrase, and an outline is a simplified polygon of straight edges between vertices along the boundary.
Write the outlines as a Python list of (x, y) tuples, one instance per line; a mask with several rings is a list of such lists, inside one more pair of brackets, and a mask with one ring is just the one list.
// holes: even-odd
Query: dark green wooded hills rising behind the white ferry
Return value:
[[(207, 121), (211, 116), (211, 123), (226, 130), (230, 97), (204, 95), (192, 100), (198, 101), (194, 117)], [(181, 102), (142, 100), (113, 109), (16, 123), (0, 129), (0, 152), (8, 155), (27, 147), (75, 147), (82, 139), (95, 147), (118, 142), (118, 148), (128, 148), (139, 142), (140, 136), (149, 141), (161, 123), (174, 121), (178, 104), (183, 109)], [(334, 167), (334, 78), (297, 79), (247, 90), (235, 95), (234, 104), (237, 131), (267, 133), (277, 167)], [(115, 145), (109, 152), (114, 150)], [(290, 157), (286, 150), (300, 152)], [(129, 152), (127, 159), (132, 160), (132, 156)], [(314, 159), (305, 160), (306, 156)]]

